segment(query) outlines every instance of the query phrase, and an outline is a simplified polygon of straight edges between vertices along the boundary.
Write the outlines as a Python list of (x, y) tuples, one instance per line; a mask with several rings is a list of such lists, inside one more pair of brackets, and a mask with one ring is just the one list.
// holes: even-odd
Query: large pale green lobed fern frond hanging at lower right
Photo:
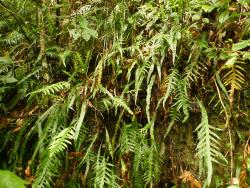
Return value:
[(218, 128), (213, 127), (208, 122), (208, 115), (203, 104), (198, 100), (201, 109), (201, 123), (196, 128), (198, 135), (197, 155), (203, 161), (202, 167), (207, 170), (207, 182), (211, 183), (213, 174), (213, 163), (218, 163), (218, 159), (226, 161), (225, 157), (220, 153), (219, 140), (220, 137), (216, 131)]

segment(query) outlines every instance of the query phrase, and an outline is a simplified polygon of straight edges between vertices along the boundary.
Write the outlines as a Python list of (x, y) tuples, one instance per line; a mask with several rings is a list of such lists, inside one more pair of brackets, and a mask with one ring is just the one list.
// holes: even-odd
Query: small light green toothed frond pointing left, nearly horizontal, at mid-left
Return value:
[(45, 86), (41, 89), (32, 91), (28, 95), (34, 95), (34, 94), (38, 94), (38, 93), (43, 93), (44, 95), (52, 95), (60, 90), (64, 90), (64, 89), (68, 90), (69, 88), (70, 88), (70, 83), (62, 81), (62, 82), (57, 82), (55, 84), (51, 84), (51, 85)]

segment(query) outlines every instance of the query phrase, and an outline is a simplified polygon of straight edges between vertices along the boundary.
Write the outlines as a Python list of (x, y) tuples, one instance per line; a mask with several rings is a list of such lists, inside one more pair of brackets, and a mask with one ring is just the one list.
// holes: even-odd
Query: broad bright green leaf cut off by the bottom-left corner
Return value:
[(25, 188), (27, 181), (8, 170), (0, 170), (0, 188)]

